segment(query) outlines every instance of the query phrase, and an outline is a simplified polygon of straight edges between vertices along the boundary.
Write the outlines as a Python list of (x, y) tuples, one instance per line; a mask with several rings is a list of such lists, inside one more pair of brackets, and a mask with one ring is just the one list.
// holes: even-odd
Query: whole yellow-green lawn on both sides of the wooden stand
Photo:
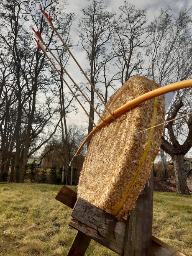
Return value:
[[(76, 189), (76, 187), (72, 187)], [(66, 255), (76, 230), (50, 184), (0, 184), (0, 256)], [(154, 192), (153, 235), (192, 255), (192, 196)], [(117, 255), (92, 241), (87, 256)]]

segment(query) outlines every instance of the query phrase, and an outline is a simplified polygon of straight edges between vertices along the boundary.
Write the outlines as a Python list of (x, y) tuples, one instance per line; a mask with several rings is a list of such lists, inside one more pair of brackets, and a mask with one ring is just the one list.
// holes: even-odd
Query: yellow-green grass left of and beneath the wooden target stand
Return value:
[[(60, 189), (0, 184), (0, 256), (67, 255), (77, 231), (68, 225), (72, 209), (54, 199)], [(86, 254), (117, 255), (94, 241)]]

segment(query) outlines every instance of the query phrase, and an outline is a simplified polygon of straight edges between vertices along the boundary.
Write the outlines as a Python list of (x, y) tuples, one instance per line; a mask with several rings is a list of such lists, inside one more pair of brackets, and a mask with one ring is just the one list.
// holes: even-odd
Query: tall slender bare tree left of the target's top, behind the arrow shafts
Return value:
[[(106, 11), (104, 0), (88, 0), (90, 5), (82, 9), (79, 21), (79, 36), (82, 47), (89, 61), (87, 74), (94, 87), (102, 81), (102, 72), (106, 65), (106, 52), (112, 33), (110, 26), (113, 14)], [(109, 59), (108, 59), (109, 60)], [(94, 105), (94, 90), (86, 85), (90, 92), (90, 102)], [(94, 110), (90, 107), (90, 117), (94, 120)], [(93, 124), (89, 120), (88, 134), (92, 131)], [(89, 145), (89, 143), (87, 143)]]

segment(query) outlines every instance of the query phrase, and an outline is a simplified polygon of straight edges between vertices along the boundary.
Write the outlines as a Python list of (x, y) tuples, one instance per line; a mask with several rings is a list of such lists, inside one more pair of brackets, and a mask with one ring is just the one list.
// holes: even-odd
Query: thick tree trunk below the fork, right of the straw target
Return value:
[(184, 155), (172, 156), (177, 194), (189, 195), (184, 169)]

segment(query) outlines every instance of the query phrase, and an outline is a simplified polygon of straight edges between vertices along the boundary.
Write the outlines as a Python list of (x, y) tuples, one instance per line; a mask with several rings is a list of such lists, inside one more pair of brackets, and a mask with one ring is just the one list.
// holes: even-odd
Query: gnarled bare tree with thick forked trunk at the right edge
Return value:
[[(177, 92), (171, 103), (167, 120), (192, 111), (192, 90)], [(184, 155), (192, 147), (192, 116), (168, 123), (167, 133), (162, 136), (161, 148), (173, 160), (177, 193), (189, 194), (184, 169)]]

